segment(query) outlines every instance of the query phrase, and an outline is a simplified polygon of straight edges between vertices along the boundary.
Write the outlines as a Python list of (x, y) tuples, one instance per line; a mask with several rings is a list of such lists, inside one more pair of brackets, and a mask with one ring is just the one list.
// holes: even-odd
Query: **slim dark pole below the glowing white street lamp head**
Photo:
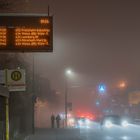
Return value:
[(67, 114), (68, 114), (68, 110), (67, 110), (67, 92), (68, 92), (68, 87), (67, 87), (67, 79), (65, 78), (65, 127), (67, 128)]

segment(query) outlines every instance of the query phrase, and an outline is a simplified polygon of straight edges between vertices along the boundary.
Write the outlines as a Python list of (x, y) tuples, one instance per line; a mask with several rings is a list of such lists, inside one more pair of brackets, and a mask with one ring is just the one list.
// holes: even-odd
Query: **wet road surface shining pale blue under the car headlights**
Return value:
[(80, 136), (82, 140), (139, 140), (140, 126), (131, 125), (128, 128), (114, 126), (111, 129), (95, 128), (81, 130)]

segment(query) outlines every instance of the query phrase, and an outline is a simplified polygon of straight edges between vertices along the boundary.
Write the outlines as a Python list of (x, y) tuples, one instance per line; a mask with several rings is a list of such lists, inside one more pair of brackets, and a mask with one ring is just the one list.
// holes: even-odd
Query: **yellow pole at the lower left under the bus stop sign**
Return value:
[(6, 97), (6, 140), (9, 140), (9, 99)]

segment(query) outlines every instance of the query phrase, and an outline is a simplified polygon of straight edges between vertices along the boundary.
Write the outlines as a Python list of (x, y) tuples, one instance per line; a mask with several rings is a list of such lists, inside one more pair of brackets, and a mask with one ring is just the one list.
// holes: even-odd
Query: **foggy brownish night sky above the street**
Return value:
[[(13, 0), (14, 1), (14, 0)], [(64, 89), (64, 71), (72, 83), (96, 88), (140, 87), (140, 8), (138, 0), (15, 0), (9, 12), (50, 13), (54, 17), (54, 52), (35, 54), (35, 73)], [(17, 6), (18, 5), (18, 6)], [(2, 10), (7, 12), (7, 10)], [(83, 92), (89, 92), (88, 89)]]

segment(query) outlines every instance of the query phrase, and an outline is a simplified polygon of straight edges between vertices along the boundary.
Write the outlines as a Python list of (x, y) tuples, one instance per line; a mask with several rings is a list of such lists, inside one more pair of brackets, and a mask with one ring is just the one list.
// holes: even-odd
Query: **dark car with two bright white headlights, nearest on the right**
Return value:
[(119, 125), (121, 127), (128, 127), (130, 122), (130, 118), (128, 117), (120, 117), (119, 115), (107, 115), (103, 117), (100, 125), (101, 128), (112, 128), (115, 125)]

